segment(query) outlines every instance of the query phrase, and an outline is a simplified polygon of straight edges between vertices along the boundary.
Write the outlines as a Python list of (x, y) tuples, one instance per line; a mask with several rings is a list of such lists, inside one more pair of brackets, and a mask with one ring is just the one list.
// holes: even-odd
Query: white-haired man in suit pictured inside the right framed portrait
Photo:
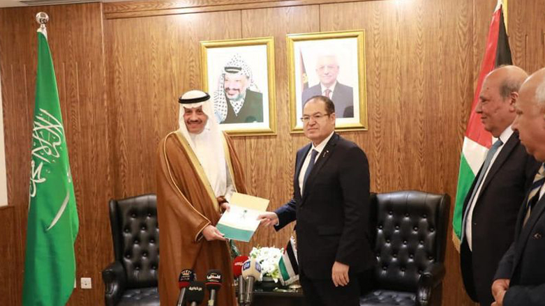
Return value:
[(324, 95), (333, 100), (337, 118), (353, 118), (354, 90), (350, 86), (337, 82), (338, 70), (335, 55), (318, 56), (316, 75), (320, 78), (320, 83), (305, 89), (301, 101), (306, 102), (315, 95)]

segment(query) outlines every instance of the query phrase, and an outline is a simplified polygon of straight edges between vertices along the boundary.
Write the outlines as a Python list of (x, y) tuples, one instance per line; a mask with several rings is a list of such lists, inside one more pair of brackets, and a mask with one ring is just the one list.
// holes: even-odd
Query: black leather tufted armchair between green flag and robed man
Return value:
[(115, 261), (102, 271), (106, 306), (158, 306), (155, 194), (110, 200)]

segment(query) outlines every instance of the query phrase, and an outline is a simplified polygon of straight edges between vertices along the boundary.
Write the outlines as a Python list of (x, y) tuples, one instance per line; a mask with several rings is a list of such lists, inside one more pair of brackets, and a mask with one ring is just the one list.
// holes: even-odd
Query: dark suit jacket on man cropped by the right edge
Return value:
[(515, 240), (500, 261), (494, 277), (495, 280), (511, 280), (503, 300), (505, 306), (545, 305), (545, 196), (535, 204), (523, 227), (525, 214), (522, 206)]

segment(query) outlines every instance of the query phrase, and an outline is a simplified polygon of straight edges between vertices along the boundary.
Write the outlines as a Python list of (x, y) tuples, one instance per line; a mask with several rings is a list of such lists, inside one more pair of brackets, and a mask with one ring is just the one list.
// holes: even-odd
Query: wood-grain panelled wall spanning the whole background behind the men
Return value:
[[(341, 135), (366, 151), (371, 189), (447, 192), (454, 204), (494, 6), (492, 0), (188, 0), (1, 9), (10, 207), (0, 217), (13, 215), (13, 222), (0, 230), (14, 234), (0, 245), (15, 265), (0, 263), (0, 270), (13, 269), (15, 277), (7, 304), (5, 296), (0, 304), (20, 305), (39, 10), (52, 17), (50, 45), (80, 213), (77, 277), (94, 282), (90, 291), (76, 289), (68, 305), (91, 306), (103, 305), (100, 271), (113, 258), (107, 199), (155, 192), (156, 146), (177, 128), (177, 97), (201, 86), (200, 40), (274, 36), (278, 134), (233, 139), (249, 192), (271, 199), (270, 210), (292, 196), (295, 153), (307, 142), (290, 135), (285, 36), (354, 29), (366, 31), (369, 129)], [(165, 13), (179, 8), (209, 11)], [(514, 62), (529, 72), (545, 66), (544, 12), (541, 0), (509, 2)], [(112, 14), (129, 15), (108, 19)], [(260, 229), (239, 247), (244, 253), (257, 245), (283, 247), (291, 230)], [(449, 241), (442, 305), (475, 305), (465, 295), (458, 257)]]

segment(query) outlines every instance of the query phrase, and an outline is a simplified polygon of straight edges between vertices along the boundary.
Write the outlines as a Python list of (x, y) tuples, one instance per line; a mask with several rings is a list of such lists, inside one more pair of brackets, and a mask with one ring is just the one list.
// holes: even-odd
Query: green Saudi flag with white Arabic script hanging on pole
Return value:
[(74, 242), (79, 222), (45, 29), (38, 30), (31, 153), (23, 305), (66, 305), (75, 284)]

